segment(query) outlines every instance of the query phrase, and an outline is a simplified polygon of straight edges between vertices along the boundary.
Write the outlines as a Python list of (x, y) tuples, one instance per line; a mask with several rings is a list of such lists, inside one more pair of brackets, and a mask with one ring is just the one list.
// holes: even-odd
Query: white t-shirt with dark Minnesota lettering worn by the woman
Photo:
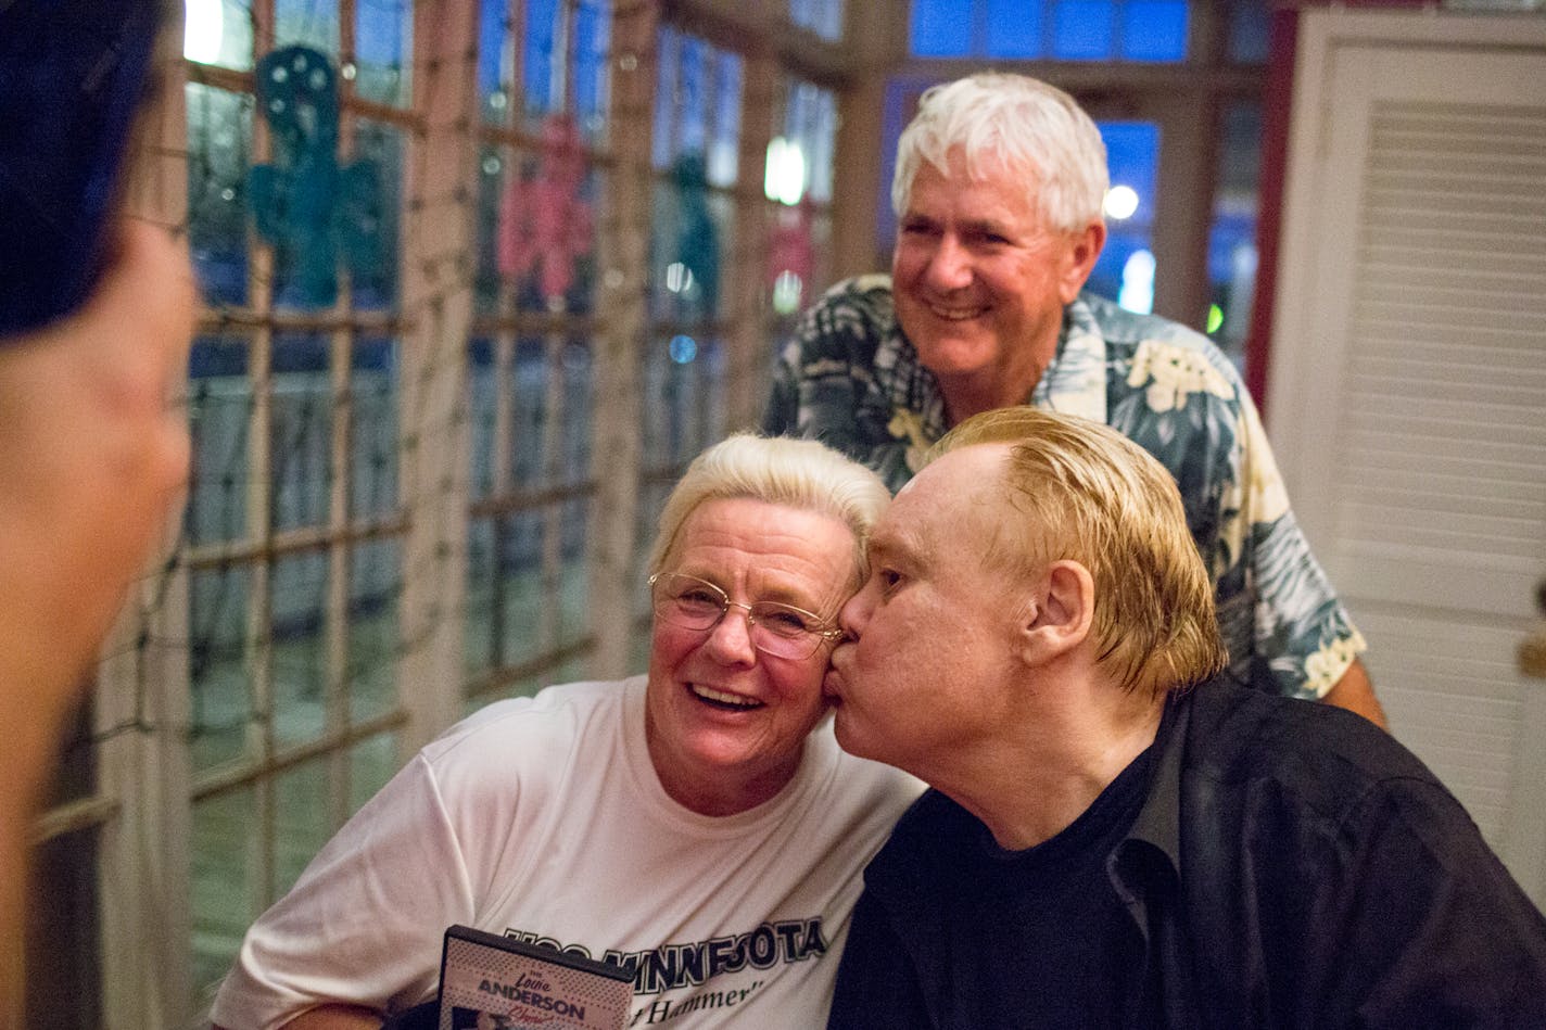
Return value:
[(827, 719), (778, 796), (697, 815), (649, 761), (643, 676), (502, 701), (339, 830), (247, 931), (212, 1016), (407, 1008), (464, 923), (632, 967), (631, 1027), (821, 1027), (864, 865), (921, 789)]

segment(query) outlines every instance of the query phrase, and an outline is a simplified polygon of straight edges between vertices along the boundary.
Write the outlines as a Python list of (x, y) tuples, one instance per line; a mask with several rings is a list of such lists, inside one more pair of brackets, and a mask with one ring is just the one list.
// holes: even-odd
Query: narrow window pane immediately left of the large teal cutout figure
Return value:
[(252, 97), (190, 82), (189, 252), (210, 305), (247, 303)]

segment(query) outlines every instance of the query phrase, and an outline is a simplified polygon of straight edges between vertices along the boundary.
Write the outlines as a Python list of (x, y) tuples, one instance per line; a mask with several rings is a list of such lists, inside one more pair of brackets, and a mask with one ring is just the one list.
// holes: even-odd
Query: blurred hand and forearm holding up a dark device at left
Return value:
[(3, 993), (22, 950), (28, 835), (65, 727), (189, 469), (176, 405), (193, 334), (187, 252), (125, 221), (85, 306), (0, 337), (0, 800)]

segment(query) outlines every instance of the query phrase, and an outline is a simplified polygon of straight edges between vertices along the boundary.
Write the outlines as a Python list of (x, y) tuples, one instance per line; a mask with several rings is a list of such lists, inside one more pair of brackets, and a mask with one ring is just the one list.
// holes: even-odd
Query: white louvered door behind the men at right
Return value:
[[(1427, 25), (1376, 39), (1398, 19)], [(1546, 680), (1514, 653), (1546, 577), (1546, 32), (1442, 20), (1306, 15), (1269, 428), (1393, 732), (1540, 900)]]

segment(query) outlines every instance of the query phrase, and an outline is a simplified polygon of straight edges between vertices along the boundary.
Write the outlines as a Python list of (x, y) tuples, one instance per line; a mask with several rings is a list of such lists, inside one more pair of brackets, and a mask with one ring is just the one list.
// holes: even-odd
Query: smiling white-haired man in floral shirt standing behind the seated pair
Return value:
[(819, 439), (897, 490), (979, 411), (1105, 422), (1180, 484), (1235, 676), (1384, 725), (1364, 639), (1234, 365), (1186, 326), (1082, 292), (1107, 182), (1101, 133), (1061, 90), (988, 73), (926, 91), (897, 144), (890, 275), (838, 283), (805, 312), (764, 431)]

